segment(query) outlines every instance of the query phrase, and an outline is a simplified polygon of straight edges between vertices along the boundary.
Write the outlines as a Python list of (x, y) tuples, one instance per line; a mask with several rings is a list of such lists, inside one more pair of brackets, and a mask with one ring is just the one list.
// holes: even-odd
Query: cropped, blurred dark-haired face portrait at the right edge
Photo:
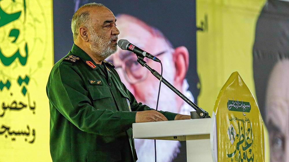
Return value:
[(256, 23), (256, 97), (270, 139), (271, 162), (289, 161), (289, 1), (268, 0)]

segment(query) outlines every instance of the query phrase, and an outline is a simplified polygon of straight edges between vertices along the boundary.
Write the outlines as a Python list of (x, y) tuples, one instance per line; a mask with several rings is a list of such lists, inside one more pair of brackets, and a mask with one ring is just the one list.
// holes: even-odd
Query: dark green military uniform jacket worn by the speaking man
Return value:
[[(54, 162), (137, 160), (132, 123), (137, 111), (153, 109), (136, 101), (112, 63), (100, 66), (74, 44), (51, 70), (46, 91)], [(160, 112), (168, 120), (177, 115)]]

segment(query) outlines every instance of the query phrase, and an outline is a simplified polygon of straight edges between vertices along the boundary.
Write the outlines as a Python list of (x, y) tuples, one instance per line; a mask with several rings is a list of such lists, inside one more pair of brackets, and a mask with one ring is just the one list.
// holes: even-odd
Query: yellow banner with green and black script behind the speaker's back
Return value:
[(1, 162), (51, 161), (45, 86), (52, 66), (52, 1), (0, 1)]

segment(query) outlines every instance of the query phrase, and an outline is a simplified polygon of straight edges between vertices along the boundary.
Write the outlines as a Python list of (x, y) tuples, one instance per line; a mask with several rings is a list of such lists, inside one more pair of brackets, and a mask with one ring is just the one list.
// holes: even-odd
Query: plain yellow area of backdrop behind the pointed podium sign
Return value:
[[(239, 71), (255, 95), (253, 44), (258, 16), (266, 0), (197, 0), (198, 105), (209, 114), (215, 99), (233, 71)], [(214, 78), (214, 79), (212, 79)], [(270, 161), (266, 133), (266, 162)]]

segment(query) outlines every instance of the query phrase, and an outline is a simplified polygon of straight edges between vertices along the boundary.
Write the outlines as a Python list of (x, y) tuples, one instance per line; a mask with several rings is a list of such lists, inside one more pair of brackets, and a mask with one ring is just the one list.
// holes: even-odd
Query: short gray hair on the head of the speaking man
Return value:
[(105, 5), (101, 3), (87, 3), (79, 7), (79, 9), (73, 14), (72, 20), (71, 20), (71, 31), (73, 33), (73, 41), (77, 39), (78, 36), (78, 29), (81, 25), (84, 25), (88, 29), (91, 29), (90, 27), (90, 17), (89, 17), (89, 11), (84, 10), (81, 11), (84, 8), (88, 7), (105, 7)]

